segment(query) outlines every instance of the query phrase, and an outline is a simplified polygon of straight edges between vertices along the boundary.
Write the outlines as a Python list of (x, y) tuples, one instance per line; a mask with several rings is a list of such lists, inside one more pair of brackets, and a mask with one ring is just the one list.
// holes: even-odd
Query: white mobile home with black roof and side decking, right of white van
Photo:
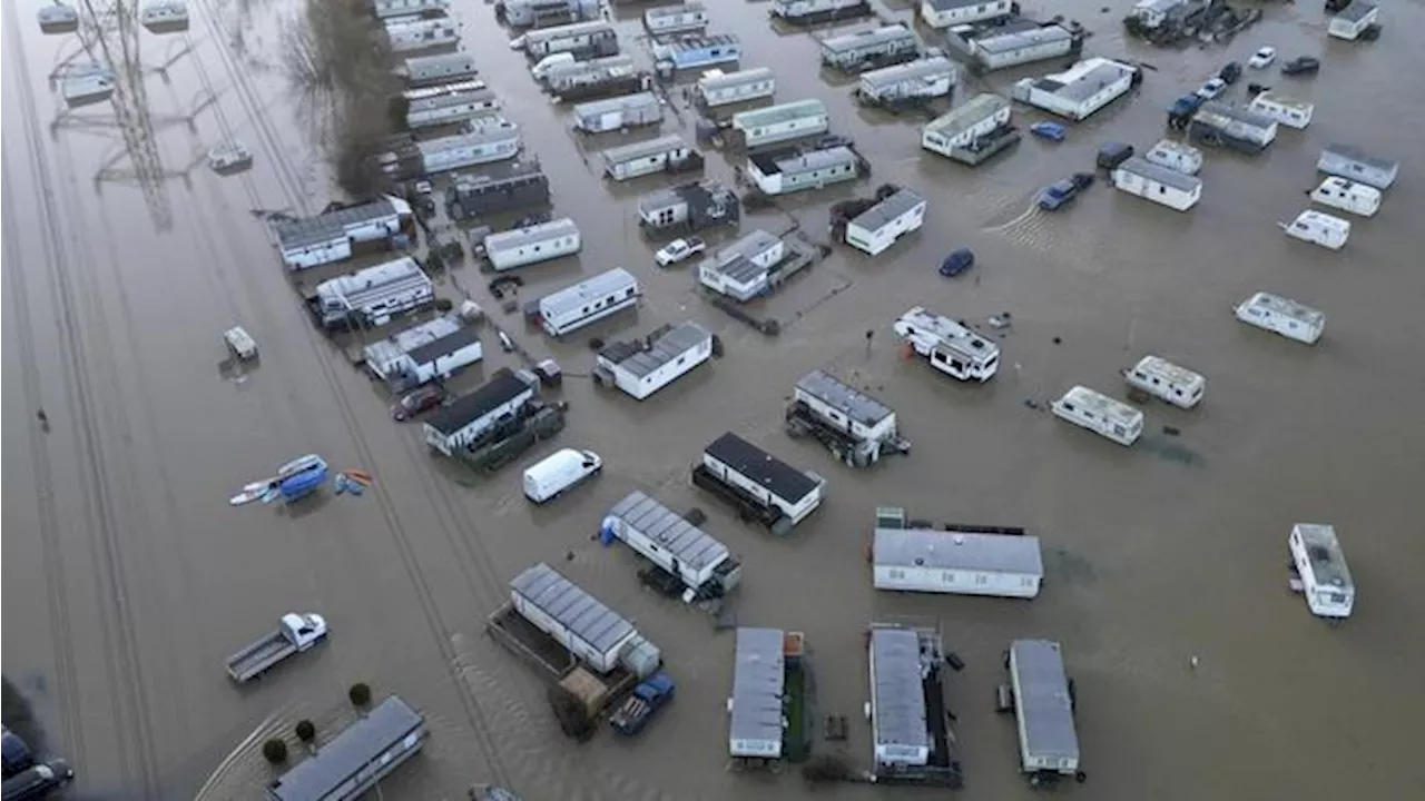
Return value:
[(731, 503), (742, 520), (785, 534), (821, 506), (826, 480), (728, 432), (703, 450), (693, 485)]

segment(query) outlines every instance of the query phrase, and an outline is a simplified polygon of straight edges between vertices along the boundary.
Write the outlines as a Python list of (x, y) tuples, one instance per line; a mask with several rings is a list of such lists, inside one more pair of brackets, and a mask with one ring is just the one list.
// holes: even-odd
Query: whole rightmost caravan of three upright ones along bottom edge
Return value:
[(1029, 775), (1030, 784), (1043, 784), (1046, 774), (1083, 781), (1073, 684), (1064, 671), (1059, 643), (1010, 643), (1009, 690), (1019, 731), (1019, 770)]

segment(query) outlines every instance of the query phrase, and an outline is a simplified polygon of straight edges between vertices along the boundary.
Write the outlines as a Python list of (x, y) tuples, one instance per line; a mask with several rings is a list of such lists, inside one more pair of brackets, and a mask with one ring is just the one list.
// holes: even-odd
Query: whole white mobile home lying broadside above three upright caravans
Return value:
[(1045, 580), (1039, 537), (936, 529), (876, 529), (878, 590), (1032, 599)]

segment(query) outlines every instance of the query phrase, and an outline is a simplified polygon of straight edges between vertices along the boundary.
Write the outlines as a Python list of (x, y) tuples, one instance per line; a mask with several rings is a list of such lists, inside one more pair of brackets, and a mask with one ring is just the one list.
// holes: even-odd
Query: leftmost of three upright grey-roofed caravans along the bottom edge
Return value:
[(781, 629), (738, 629), (732, 696), (727, 700), (727, 753), (735, 760), (781, 760), (787, 720)]

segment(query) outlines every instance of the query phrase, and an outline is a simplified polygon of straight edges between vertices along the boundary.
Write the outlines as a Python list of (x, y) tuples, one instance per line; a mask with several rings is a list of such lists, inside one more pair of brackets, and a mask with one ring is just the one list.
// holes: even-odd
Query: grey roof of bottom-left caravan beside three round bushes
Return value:
[(268, 792), (281, 801), (331, 798), (342, 782), (423, 723), (420, 713), (392, 696), (323, 743), (314, 757), (282, 774)]

